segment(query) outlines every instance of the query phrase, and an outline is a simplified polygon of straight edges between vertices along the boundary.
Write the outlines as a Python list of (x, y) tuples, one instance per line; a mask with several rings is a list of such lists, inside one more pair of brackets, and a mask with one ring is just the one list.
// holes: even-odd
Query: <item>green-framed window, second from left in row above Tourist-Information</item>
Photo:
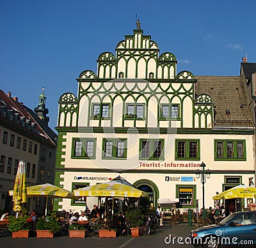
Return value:
[(126, 159), (127, 139), (103, 139), (102, 158)]

